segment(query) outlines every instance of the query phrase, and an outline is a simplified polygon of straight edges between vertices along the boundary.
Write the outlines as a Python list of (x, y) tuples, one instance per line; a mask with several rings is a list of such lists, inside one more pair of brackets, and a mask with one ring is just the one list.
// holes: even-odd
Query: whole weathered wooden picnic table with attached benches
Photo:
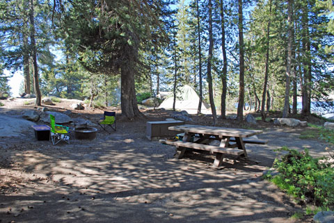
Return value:
[[(267, 141), (257, 139), (247, 139), (250, 136), (261, 134), (260, 130), (234, 129), (216, 126), (198, 126), (184, 124), (180, 126), (168, 127), (171, 131), (184, 132), (182, 141), (164, 141), (166, 144), (175, 145), (177, 158), (182, 158), (187, 149), (210, 151), (216, 154), (214, 167), (218, 167), (223, 162), (223, 154), (244, 156), (247, 158), (245, 143), (267, 144)], [(218, 140), (218, 146), (210, 145), (212, 140)], [(234, 143), (231, 143), (234, 142)]]

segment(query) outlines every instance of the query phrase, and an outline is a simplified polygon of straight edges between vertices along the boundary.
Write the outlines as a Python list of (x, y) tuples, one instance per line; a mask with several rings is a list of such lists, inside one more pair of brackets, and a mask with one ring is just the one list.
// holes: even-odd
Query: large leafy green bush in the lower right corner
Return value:
[(333, 206), (333, 167), (326, 162), (319, 162), (321, 158), (312, 158), (307, 149), (299, 152), (283, 147), (280, 150), (288, 153), (282, 160), (275, 160), (273, 166), (280, 174), (268, 176), (269, 180), (301, 202)]

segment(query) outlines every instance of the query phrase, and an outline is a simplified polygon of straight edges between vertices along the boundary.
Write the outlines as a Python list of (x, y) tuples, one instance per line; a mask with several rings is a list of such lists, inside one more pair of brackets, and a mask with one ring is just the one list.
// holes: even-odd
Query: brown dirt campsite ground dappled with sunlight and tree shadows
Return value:
[[(0, 113), (19, 117), (23, 99), (1, 101)], [(49, 110), (70, 109), (63, 101)], [(0, 222), (311, 222), (294, 220), (301, 206), (262, 179), (278, 156), (275, 149), (310, 149), (326, 156), (323, 142), (301, 140), (304, 129), (256, 126), (228, 119), (218, 126), (262, 129), (266, 145), (247, 144), (248, 160), (229, 157), (218, 169), (212, 157), (192, 154), (175, 160), (175, 148), (145, 137), (146, 122), (164, 120), (166, 110), (145, 110), (129, 122), (116, 110), (117, 131), (99, 131), (92, 141), (52, 145), (25, 137), (0, 138)], [(103, 110), (72, 111), (71, 117), (97, 122)], [(210, 117), (192, 115), (196, 124)], [(38, 124), (42, 124), (38, 122)], [(193, 124), (193, 123), (189, 123)], [(234, 164), (232, 164), (234, 160)]]

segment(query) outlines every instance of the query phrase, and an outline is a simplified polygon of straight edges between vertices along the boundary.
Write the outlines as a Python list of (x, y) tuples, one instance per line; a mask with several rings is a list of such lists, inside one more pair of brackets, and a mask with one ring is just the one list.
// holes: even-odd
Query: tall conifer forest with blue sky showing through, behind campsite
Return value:
[(239, 120), (246, 109), (287, 117), (299, 98), (310, 115), (312, 101), (333, 100), (333, 12), (332, 0), (1, 0), (0, 91), (3, 71), (22, 70), (37, 105), (121, 101), (132, 119), (138, 95), (188, 84), (214, 123), (235, 104)]

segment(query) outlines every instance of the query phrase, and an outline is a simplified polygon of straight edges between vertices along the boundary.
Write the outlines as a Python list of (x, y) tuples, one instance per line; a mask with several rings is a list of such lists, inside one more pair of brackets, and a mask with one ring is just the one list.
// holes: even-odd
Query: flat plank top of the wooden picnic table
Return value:
[(239, 138), (247, 138), (263, 133), (261, 130), (234, 129), (217, 126), (198, 126), (192, 124), (170, 126), (168, 129), (172, 131), (183, 131), (185, 133), (202, 133), (207, 135), (218, 135), (219, 137), (230, 136)]

